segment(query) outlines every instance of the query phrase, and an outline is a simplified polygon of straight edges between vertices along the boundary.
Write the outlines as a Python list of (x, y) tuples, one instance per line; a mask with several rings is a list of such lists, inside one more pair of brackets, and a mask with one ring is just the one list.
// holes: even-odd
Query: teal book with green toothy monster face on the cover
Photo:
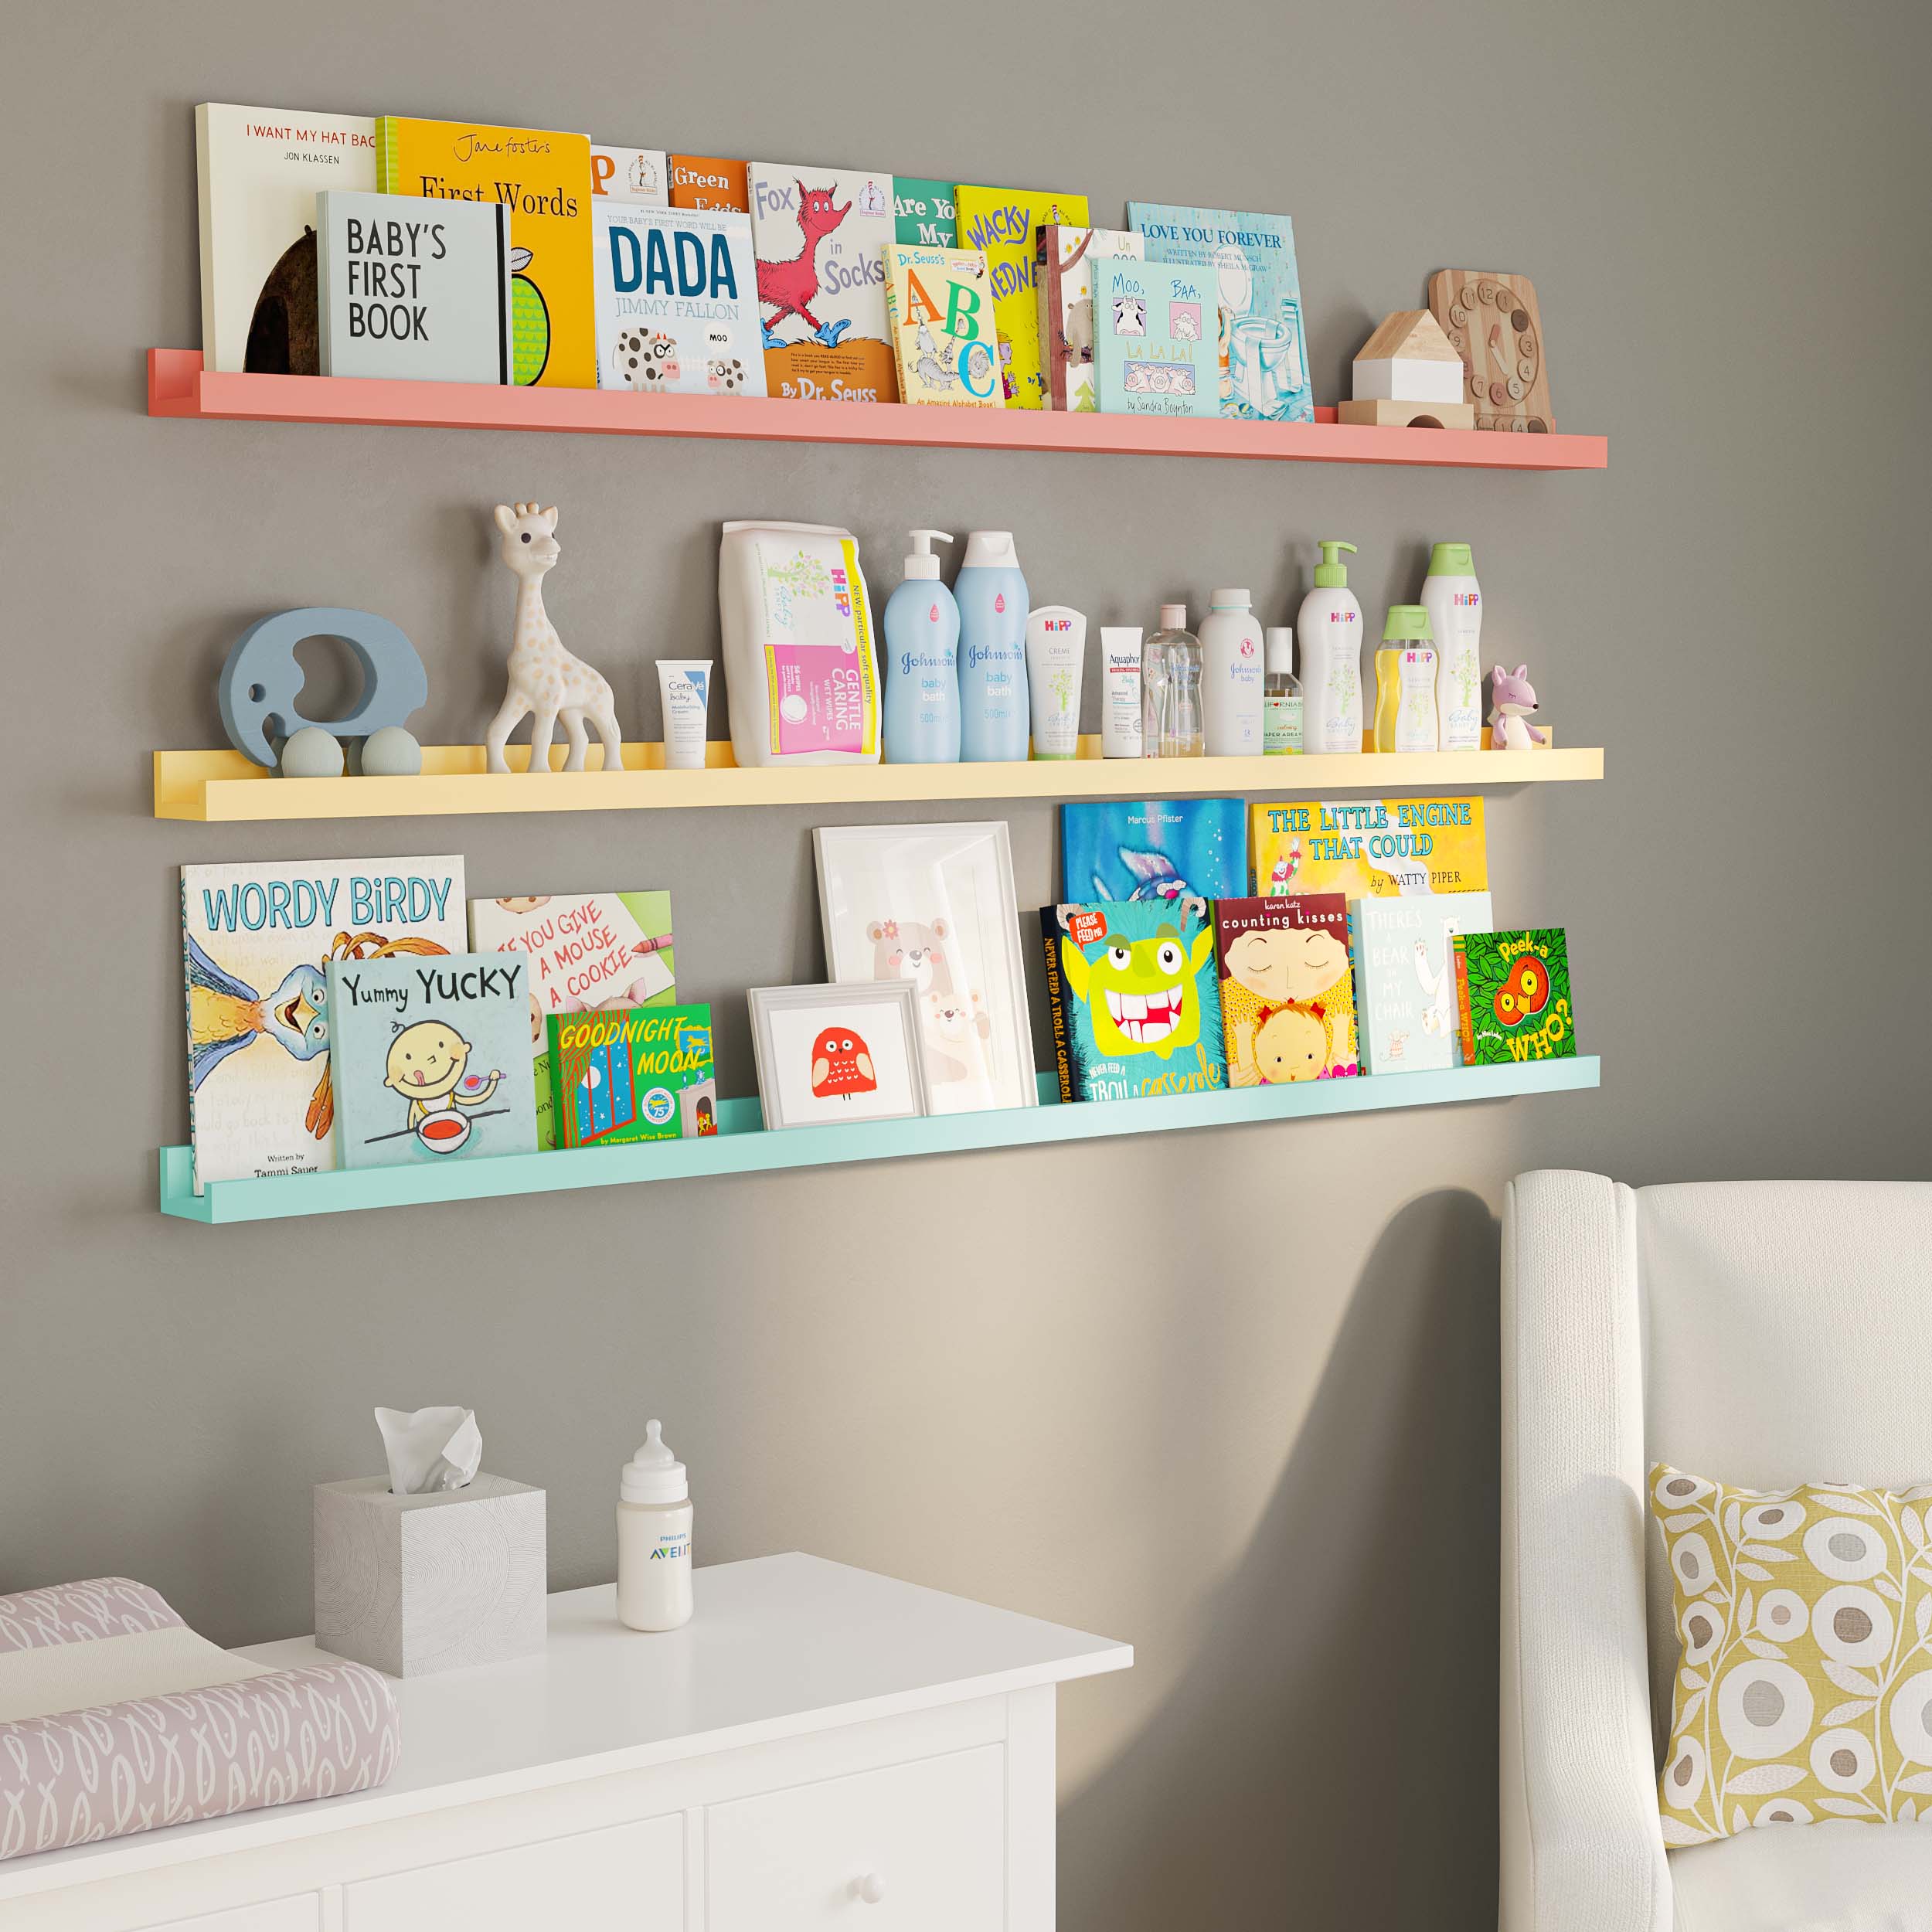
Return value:
[(1047, 906), (1039, 925), (1061, 1099), (1227, 1086), (1206, 898)]

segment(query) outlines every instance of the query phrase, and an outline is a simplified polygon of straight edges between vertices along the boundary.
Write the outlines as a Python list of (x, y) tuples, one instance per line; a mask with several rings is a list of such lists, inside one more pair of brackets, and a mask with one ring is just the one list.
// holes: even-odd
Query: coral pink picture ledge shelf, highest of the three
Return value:
[(1088, 456), (1227, 456), (1252, 462), (1410, 464), (1447, 469), (1605, 469), (1607, 437), (1493, 429), (1374, 429), (1333, 421), (949, 410), (784, 396), (636, 396), (599, 388), (386, 383), (363, 377), (224, 375), (199, 350), (147, 352), (147, 413), (245, 423), (386, 429), (535, 429), (601, 437), (724, 437), (898, 448), (1045, 450)]

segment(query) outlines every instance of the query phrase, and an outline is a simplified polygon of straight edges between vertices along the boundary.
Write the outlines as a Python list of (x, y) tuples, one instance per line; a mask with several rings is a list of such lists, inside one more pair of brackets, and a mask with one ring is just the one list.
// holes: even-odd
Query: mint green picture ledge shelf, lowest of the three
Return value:
[(404, 1208), (413, 1202), (471, 1202), (498, 1194), (554, 1194), (611, 1188), (634, 1180), (694, 1180), (752, 1175), (777, 1167), (838, 1167), (893, 1161), (910, 1153), (966, 1153), (974, 1148), (1028, 1148), (1047, 1140), (1105, 1140), (1113, 1134), (1169, 1134), (1252, 1121), (1304, 1121), (1320, 1113), (1378, 1113), (1387, 1107), (1441, 1107), (1451, 1101), (1505, 1099), (1511, 1094), (1565, 1094), (1598, 1084), (1596, 1057), (1528, 1061), (1520, 1066), (1464, 1066), (1437, 1074), (1383, 1074), (1379, 1080), (1308, 1080), (1296, 1086), (1229, 1094), (1177, 1094), (1169, 1099), (1082, 1101), (1063, 1107), (1059, 1082), (1041, 1074), (1039, 1107), (954, 1113), (933, 1121), (881, 1121), (866, 1126), (796, 1126), (767, 1134), (755, 1099), (719, 1107), (707, 1140), (659, 1140), (636, 1148), (576, 1148), (510, 1153), (495, 1161), (440, 1167), (373, 1167), (359, 1173), (286, 1175), (272, 1180), (211, 1180), (195, 1194), (189, 1148), (160, 1150), (160, 1211), (182, 1221), (280, 1221), (303, 1213)]

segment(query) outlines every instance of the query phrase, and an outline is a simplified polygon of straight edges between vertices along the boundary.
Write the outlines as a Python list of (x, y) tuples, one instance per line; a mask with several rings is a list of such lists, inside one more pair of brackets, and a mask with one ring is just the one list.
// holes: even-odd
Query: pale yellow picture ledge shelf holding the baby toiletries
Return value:
[[(703, 771), (665, 771), (659, 744), (626, 744), (624, 773), (527, 773), (529, 746), (512, 744), (510, 773), (483, 769), (483, 746), (423, 748), (413, 779), (282, 779), (240, 752), (156, 752), (155, 817), (419, 819), (471, 811), (643, 811), (701, 806), (858, 806), (972, 798), (1198, 798), (1209, 792), (1314, 798), (1329, 792), (1416, 792), (1435, 786), (1548, 784), (1602, 779), (1600, 748), (1544, 752), (1405, 752), (1339, 757), (1078, 757), (1003, 765), (794, 765), (740, 771), (730, 742), (709, 746)], [(591, 748), (601, 765), (603, 750)], [(564, 746), (551, 748), (562, 765)]]

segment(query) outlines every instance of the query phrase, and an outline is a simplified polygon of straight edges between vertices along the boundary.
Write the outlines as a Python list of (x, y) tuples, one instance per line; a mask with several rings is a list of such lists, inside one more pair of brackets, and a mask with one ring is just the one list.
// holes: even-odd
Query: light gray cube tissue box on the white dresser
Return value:
[(543, 1490), (477, 1474), (392, 1495), (386, 1476), (315, 1486), (315, 1642), (390, 1677), (543, 1648)]

